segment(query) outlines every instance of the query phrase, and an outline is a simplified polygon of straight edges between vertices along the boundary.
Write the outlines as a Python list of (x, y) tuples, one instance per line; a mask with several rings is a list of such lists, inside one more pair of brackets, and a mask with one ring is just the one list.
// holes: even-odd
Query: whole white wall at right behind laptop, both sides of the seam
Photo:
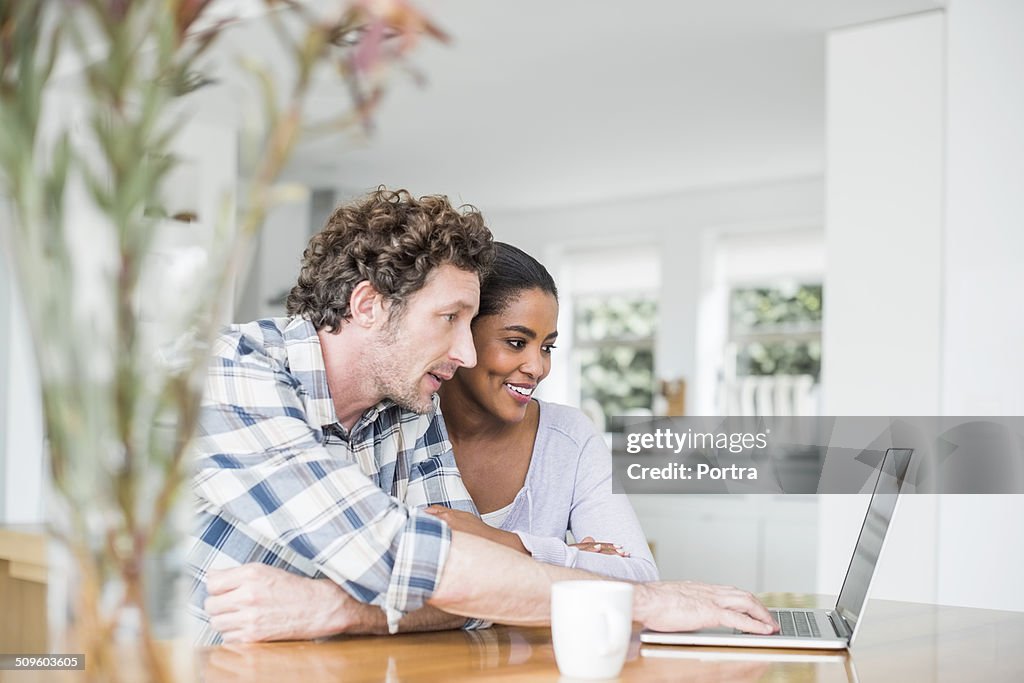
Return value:
[[(829, 36), (827, 414), (1021, 413), (1022, 29), (1018, 2), (952, 0)], [(1024, 610), (1022, 499), (905, 497), (876, 595)], [(863, 503), (823, 497), (821, 592)]]

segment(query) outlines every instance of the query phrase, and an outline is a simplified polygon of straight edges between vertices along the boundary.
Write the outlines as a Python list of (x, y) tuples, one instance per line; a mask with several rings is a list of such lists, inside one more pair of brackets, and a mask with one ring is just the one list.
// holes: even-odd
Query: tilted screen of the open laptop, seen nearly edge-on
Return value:
[(853, 629), (860, 617), (860, 610), (867, 597), (867, 586), (879, 562), (882, 544), (896, 510), (896, 499), (899, 496), (906, 470), (910, 463), (910, 449), (889, 449), (882, 459), (879, 478), (874, 482), (874, 493), (871, 502), (867, 504), (867, 514), (860, 527), (857, 546), (847, 569), (843, 590), (839, 594), (836, 610)]

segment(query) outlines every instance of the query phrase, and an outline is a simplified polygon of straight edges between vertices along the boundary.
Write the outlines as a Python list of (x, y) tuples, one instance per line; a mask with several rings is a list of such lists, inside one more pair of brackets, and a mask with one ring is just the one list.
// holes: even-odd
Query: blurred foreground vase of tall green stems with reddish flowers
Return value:
[[(70, 609), (89, 680), (168, 680), (147, 611), (150, 567), (179, 541), (168, 530), (209, 340), (301, 133), (314, 70), (333, 65), (352, 94), (338, 121), (366, 124), (384, 68), (420, 35), (444, 38), (402, 0), (330, 11), (265, 0), (291, 57), (290, 88), (282, 96), (273, 72), (247, 63), (265, 130), (238, 215), (225, 202), (216, 220), (203, 217), (205, 248), (167, 264), (158, 258), (167, 232), (201, 229), (169, 221), (162, 197), (181, 161), (178, 102), (216, 85), (202, 60), (233, 26), (212, 18), (214, 4), (0, 0), (0, 173), (11, 208), (2, 231), (34, 340), (52, 531), (75, 558)], [(63, 111), (66, 88), (80, 90), (82, 111)], [(113, 649), (126, 632), (136, 671)]]

